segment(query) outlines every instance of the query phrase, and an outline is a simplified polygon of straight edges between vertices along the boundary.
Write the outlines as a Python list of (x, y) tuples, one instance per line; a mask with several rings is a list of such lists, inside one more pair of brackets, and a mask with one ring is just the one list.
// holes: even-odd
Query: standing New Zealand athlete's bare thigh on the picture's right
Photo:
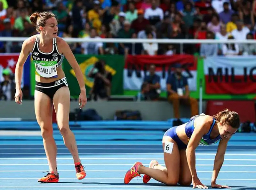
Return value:
[(59, 128), (69, 127), (70, 92), (68, 87), (61, 87), (56, 91), (53, 96), (53, 105)]

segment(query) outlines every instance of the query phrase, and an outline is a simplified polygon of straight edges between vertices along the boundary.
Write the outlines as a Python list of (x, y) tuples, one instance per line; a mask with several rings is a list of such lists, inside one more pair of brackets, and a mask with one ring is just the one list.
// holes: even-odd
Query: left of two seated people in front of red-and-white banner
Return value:
[(147, 96), (150, 100), (157, 100), (160, 95), (160, 77), (156, 75), (156, 66), (149, 66), (149, 75), (146, 75), (144, 78), (144, 82), (148, 83), (148, 92)]

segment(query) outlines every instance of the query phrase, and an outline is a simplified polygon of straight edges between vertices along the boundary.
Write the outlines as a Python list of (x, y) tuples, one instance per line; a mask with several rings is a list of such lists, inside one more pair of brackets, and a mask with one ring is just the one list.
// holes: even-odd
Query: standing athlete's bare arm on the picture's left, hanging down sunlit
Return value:
[(18, 104), (21, 104), (22, 101), (22, 92), (21, 92), (21, 78), (22, 78), (22, 71), (23, 71), (23, 65), (25, 64), (25, 61), (28, 58), (28, 55), (30, 51), (33, 48), (35, 41), (35, 37), (31, 36), (30, 38), (26, 39), (22, 43), (21, 52), (18, 58), (18, 62), (16, 64), (15, 68), (15, 85), (16, 85), (16, 93), (15, 93), (15, 102)]

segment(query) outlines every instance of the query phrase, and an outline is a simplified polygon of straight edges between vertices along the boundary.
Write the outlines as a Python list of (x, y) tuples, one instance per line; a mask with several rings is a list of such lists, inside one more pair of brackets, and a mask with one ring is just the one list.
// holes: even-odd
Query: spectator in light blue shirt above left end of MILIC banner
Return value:
[[(211, 31), (207, 32), (207, 39), (215, 39), (215, 34)], [(218, 54), (218, 44), (213, 43), (204, 43), (201, 44), (200, 48), (200, 56), (208, 57), (208, 56), (217, 56)]]

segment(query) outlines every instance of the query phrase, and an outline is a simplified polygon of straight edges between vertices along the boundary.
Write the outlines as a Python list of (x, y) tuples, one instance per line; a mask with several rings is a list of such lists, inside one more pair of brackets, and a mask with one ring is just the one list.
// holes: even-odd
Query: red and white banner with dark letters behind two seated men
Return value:
[(183, 75), (188, 77), (189, 90), (196, 91), (197, 57), (192, 55), (129, 55), (124, 65), (124, 89), (140, 90), (151, 64), (156, 65), (156, 74), (160, 76), (162, 90), (166, 90), (166, 79), (173, 71), (175, 64), (181, 64)]

